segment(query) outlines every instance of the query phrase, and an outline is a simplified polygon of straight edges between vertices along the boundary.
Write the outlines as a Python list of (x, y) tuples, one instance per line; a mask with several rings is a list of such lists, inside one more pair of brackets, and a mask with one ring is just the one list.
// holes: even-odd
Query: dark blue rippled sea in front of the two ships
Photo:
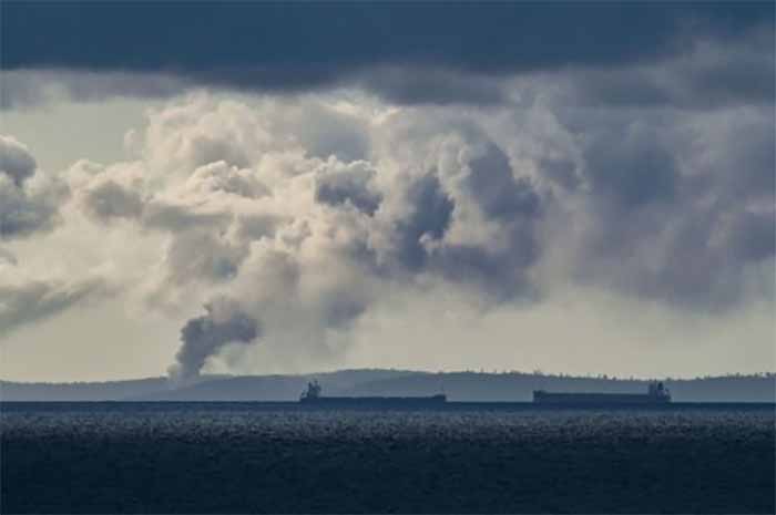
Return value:
[(4, 403), (2, 513), (774, 513), (774, 406)]

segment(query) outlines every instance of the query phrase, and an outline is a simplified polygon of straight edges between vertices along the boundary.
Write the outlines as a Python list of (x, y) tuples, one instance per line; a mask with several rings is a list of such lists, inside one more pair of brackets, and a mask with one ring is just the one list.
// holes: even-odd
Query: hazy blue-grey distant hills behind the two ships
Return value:
[[(340, 370), (298, 375), (204, 375), (173, 385), (166, 378), (109, 382), (24, 383), (0, 381), (2, 401), (295, 401), (308, 380), (331, 395), (429, 395), (450, 401), (528, 402), (532, 391), (642, 392), (646, 379), (572, 377), (524, 372), (419, 372)], [(776, 374), (664, 379), (676, 402), (776, 402)]]

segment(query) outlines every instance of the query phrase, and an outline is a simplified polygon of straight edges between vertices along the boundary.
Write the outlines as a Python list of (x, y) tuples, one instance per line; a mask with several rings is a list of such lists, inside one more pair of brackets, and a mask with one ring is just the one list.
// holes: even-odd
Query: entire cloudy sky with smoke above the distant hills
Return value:
[(2, 379), (776, 370), (772, 2), (0, 24)]

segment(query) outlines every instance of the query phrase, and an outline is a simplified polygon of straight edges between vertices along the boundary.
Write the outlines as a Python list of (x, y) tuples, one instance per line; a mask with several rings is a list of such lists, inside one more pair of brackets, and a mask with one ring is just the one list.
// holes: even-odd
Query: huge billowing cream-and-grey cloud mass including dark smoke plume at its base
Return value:
[(584, 288), (688, 313), (773, 302), (767, 106), (524, 102), (188, 95), (147, 113), (134, 161), (64, 173), (63, 227), (154, 258), (106, 274), (182, 320), (186, 380), (256, 348), (336, 363), (365, 318), (415, 295), (486, 312)]

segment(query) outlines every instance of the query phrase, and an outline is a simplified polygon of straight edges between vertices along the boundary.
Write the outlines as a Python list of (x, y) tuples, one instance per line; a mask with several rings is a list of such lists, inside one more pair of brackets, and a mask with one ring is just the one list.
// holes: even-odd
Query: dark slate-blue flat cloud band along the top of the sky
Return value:
[[(489, 103), (502, 91), (488, 76), (649, 63), (676, 53), (687, 31), (735, 40), (773, 20), (767, 2), (6, 2), (2, 69), (151, 73), (282, 91), (355, 81), (400, 103)], [(748, 64), (731, 63), (748, 76)], [(717, 78), (704, 69), (693, 76)], [(113, 82), (106, 86), (131, 87)], [(748, 84), (753, 94), (770, 91), (759, 79)], [(141, 89), (159, 94), (170, 83)]]

